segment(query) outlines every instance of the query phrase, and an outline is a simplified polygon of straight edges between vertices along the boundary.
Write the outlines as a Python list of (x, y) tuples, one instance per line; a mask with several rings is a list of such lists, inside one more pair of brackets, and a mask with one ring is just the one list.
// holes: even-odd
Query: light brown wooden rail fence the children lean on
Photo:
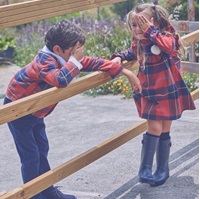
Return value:
[[(25, 3), (2, 6), (0, 7), (0, 29), (121, 1), (122, 0), (34, 0)], [(40, 9), (38, 9), (38, 7)], [(183, 36), (182, 39), (187, 46), (198, 42), (199, 30)], [(136, 62), (125, 62), (124, 66), (130, 70), (135, 70), (138, 67)], [(192, 73), (198, 73), (199, 71), (197, 63), (191, 64), (190, 62), (182, 62), (181, 66), (183, 71), (189, 71)], [(40, 93), (3, 105), (0, 107), (0, 125), (82, 93), (109, 80), (110, 77), (108, 74), (94, 72), (82, 78), (73, 80), (67, 88), (50, 88)], [(199, 89), (193, 91), (191, 94), (193, 100), (198, 99)], [(13, 191), (5, 193), (0, 196), (0, 199), (30, 198), (130, 141), (140, 133), (144, 132), (146, 128), (147, 123), (142, 120), (68, 162), (46, 172)]]

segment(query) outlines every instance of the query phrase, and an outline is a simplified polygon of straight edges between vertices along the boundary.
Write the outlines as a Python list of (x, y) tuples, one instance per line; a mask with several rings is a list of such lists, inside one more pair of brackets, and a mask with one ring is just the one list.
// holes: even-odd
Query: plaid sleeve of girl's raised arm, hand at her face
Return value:
[(160, 30), (155, 29), (154, 26), (150, 26), (145, 32), (144, 36), (150, 39), (155, 45), (157, 45), (161, 51), (172, 54), (176, 49), (176, 38), (174, 34), (170, 32), (161, 33)]

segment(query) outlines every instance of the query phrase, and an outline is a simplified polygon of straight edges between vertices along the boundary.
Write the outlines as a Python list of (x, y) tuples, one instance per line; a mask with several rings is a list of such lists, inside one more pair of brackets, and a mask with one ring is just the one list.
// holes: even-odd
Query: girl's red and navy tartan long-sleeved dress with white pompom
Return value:
[[(170, 32), (170, 33), (169, 33)], [(139, 116), (149, 120), (176, 120), (184, 110), (195, 109), (194, 102), (180, 74), (178, 57), (178, 35), (170, 26), (169, 32), (160, 33), (153, 26), (144, 35), (147, 40), (141, 41), (145, 52), (145, 66), (139, 62), (138, 78), (142, 85), (142, 93), (137, 91), (133, 97)], [(160, 53), (155, 55), (151, 47), (156, 45)], [(136, 58), (137, 43), (127, 51), (112, 56), (120, 56), (122, 60)]]

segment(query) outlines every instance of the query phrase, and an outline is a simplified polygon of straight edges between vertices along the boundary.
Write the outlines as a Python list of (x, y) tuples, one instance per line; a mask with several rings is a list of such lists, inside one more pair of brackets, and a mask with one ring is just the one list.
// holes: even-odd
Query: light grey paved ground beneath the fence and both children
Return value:
[[(0, 100), (2, 104), (2, 100)], [(56, 185), (78, 199), (197, 199), (199, 198), (199, 100), (172, 126), (171, 177), (152, 188), (138, 183), (141, 138), (112, 151)], [(133, 100), (122, 96), (77, 95), (59, 103), (46, 118), (52, 168), (111, 138), (141, 119)], [(0, 126), (0, 192), (22, 184), (12, 137)]]

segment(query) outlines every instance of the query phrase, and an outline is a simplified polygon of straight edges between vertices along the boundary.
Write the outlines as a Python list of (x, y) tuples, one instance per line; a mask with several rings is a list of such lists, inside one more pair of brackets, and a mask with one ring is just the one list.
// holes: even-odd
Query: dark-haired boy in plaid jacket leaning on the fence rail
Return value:
[[(45, 35), (45, 47), (34, 60), (23, 67), (8, 85), (4, 103), (9, 103), (51, 87), (66, 87), (80, 71), (104, 71), (112, 78), (119, 73), (126, 75), (132, 88), (141, 90), (139, 80), (129, 70), (108, 60), (85, 57), (82, 30), (70, 21), (62, 20), (53, 25)], [(21, 160), (21, 173), (26, 183), (50, 170), (47, 155), (48, 138), (44, 117), (56, 104), (8, 122)], [(51, 186), (32, 199), (76, 199)]]

